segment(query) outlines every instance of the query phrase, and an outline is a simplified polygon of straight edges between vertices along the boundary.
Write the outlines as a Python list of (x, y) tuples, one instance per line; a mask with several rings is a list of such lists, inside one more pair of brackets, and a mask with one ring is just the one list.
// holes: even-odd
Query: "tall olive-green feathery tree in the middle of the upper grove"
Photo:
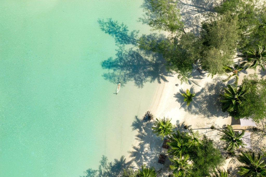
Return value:
[(211, 74), (225, 74), (225, 66), (233, 63), (239, 40), (238, 18), (223, 14), (202, 23), (203, 47), (199, 63)]

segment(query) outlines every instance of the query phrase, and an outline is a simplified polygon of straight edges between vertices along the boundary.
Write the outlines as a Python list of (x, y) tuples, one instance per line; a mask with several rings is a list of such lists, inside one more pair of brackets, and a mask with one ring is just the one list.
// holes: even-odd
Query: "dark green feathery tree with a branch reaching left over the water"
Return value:
[(201, 41), (193, 33), (180, 34), (178, 37), (152, 40), (142, 36), (138, 40), (139, 48), (159, 53), (165, 59), (168, 72), (176, 73), (181, 82), (188, 82), (193, 64), (200, 57)]

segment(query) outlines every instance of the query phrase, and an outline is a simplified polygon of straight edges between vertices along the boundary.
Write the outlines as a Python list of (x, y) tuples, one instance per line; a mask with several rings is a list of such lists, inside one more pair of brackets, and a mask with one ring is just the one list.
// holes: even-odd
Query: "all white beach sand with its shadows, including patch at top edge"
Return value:
[[(208, 11), (212, 11), (212, 7), (217, 5), (219, 1), (185, 1), (182, 0), (180, 5), (180, 13), (184, 21), (189, 21), (188, 27), (191, 30), (195, 30), (197, 33), (197, 24), (203, 20), (203, 14)], [(234, 64), (239, 64), (242, 58), (235, 58)], [(252, 69), (242, 70), (239, 74), (239, 85), (242, 82), (243, 76), (255, 73)], [(259, 78), (265, 78), (265, 72), (258, 70), (256, 72)], [(253, 132), (252, 126), (240, 127), (240, 120), (235, 120), (233, 117), (228, 116), (228, 113), (222, 112), (222, 103), (220, 94), (223, 93), (223, 87), (227, 84), (232, 84), (233, 79), (228, 82), (222, 82), (223, 76), (211, 76), (208, 77), (208, 73), (200, 68), (194, 67), (192, 77), (188, 80), (188, 83), (180, 83), (177, 79), (177, 75), (172, 74), (166, 77), (166, 82), (157, 86), (156, 93), (153, 97), (152, 104), (149, 108), (155, 118), (169, 118), (172, 119), (171, 123), (175, 125), (174, 131), (188, 131), (184, 129), (185, 125), (192, 128), (195, 131), (199, 131), (201, 135), (214, 140), (217, 148), (220, 149), (224, 157), (230, 158), (223, 147), (224, 142), (220, 139), (220, 131), (210, 129), (211, 126), (215, 126), (218, 129), (223, 129), (225, 126), (232, 125), (235, 131), (241, 131), (245, 129), (246, 132), (251, 133), (251, 148), (239, 148), (236, 154), (240, 151), (251, 150), (259, 152), (263, 146), (265, 146), (264, 135), (261, 132)], [(184, 97), (181, 93), (189, 89), (191, 93), (196, 93), (193, 101), (189, 106), (186, 106)], [(263, 128), (263, 122), (256, 123), (257, 128)], [(138, 133), (135, 137), (135, 142), (126, 157), (127, 161), (132, 162), (134, 169), (141, 168), (141, 165), (146, 164), (147, 167), (155, 167), (157, 176), (168, 176), (171, 174), (168, 168), (170, 161), (167, 158), (165, 164), (158, 163), (159, 154), (167, 154), (167, 149), (162, 148), (163, 141), (161, 137), (157, 137), (152, 132), (153, 122), (145, 124), (142, 118), (136, 118), (132, 123), (132, 129), (137, 130)], [(265, 133), (264, 133), (265, 134)], [(232, 174), (238, 171), (236, 166), (239, 166), (239, 162), (236, 156), (232, 157), (231, 161), (228, 160), (228, 168)], [(235, 175), (238, 176), (238, 175)]]

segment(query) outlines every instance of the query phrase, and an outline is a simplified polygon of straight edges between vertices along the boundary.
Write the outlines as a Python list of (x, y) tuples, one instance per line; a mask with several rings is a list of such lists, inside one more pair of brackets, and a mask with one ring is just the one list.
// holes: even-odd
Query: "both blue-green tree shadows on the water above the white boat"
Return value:
[[(102, 31), (114, 37), (118, 46), (116, 58), (110, 57), (101, 62), (102, 68), (109, 71), (103, 74), (106, 80), (121, 81), (124, 84), (134, 81), (139, 88), (142, 88), (146, 82), (167, 81), (166, 76), (169, 76), (169, 73), (165, 71), (164, 58), (160, 54), (138, 48), (138, 31), (129, 32), (126, 25), (112, 19), (98, 20), (98, 23)], [(162, 35), (155, 33), (145, 37), (162, 39)]]

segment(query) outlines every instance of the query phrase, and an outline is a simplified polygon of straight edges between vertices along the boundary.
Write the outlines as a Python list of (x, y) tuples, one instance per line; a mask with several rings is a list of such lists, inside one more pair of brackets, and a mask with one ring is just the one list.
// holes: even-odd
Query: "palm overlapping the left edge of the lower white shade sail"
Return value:
[(239, 146), (244, 146), (246, 144), (243, 143), (242, 137), (244, 136), (245, 130), (242, 130), (241, 133), (238, 131), (235, 132), (233, 127), (227, 125), (226, 129), (222, 130), (223, 134), (220, 140), (224, 140), (226, 142), (226, 147), (224, 150), (229, 151), (234, 154), (235, 149), (238, 149)]

